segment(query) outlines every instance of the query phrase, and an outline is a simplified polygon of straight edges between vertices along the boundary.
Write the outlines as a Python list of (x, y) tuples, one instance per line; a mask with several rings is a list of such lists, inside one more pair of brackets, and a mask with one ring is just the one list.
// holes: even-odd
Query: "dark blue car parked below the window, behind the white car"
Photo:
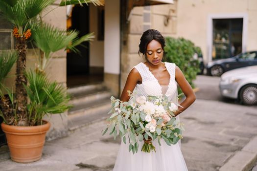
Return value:
[(207, 74), (221, 76), (224, 72), (232, 69), (257, 65), (257, 51), (240, 53), (232, 58), (214, 60), (207, 64)]

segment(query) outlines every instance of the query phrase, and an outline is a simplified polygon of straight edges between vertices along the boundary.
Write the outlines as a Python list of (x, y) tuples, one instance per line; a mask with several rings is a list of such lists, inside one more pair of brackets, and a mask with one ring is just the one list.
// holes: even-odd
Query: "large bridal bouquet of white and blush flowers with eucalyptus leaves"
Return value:
[(125, 144), (127, 137), (129, 152), (132, 150), (133, 154), (138, 152), (138, 141), (144, 141), (141, 151), (156, 152), (153, 140), (158, 139), (161, 146), (160, 140), (163, 138), (170, 146), (183, 138), (183, 124), (176, 120), (173, 113), (178, 110), (178, 104), (169, 102), (165, 95), (135, 98), (135, 92), (128, 93), (129, 102), (111, 97), (112, 109), (108, 113), (111, 116), (107, 119), (110, 124), (102, 130), (103, 135), (109, 129), (115, 140), (118, 135)]

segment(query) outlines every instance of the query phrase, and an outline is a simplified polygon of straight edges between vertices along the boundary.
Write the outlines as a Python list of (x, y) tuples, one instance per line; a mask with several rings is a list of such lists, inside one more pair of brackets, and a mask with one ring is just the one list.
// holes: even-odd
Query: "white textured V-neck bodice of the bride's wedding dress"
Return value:
[[(177, 93), (177, 83), (175, 81), (175, 69), (176, 64), (164, 62), (165, 67), (170, 75), (169, 84), (165, 95), (168, 97), (169, 101), (173, 101), (177, 103), (176, 97)], [(142, 83), (137, 84), (134, 91), (137, 92), (137, 96), (161, 96), (162, 94), (162, 85), (159, 84), (158, 80), (154, 77), (154, 75), (149, 70), (148, 66), (139, 63), (133, 68), (136, 68), (142, 78)]]

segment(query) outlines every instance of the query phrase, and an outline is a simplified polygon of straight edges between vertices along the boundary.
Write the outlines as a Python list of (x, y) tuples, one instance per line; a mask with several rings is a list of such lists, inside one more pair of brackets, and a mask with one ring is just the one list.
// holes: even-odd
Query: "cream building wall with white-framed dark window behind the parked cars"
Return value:
[(178, 0), (177, 34), (203, 51), (205, 64), (257, 50), (257, 0)]

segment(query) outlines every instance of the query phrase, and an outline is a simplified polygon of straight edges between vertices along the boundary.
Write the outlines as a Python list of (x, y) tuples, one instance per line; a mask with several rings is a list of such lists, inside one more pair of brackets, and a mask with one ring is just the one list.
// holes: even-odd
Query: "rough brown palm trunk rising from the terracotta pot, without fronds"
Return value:
[(17, 105), (18, 126), (28, 126), (27, 121), (27, 92), (24, 85), (27, 85), (27, 79), (24, 75), (26, 69), (26, 40), (23, 37), (18, 38), (19, 43), (16, 48), (19, 52), (19, 57), (16, 62), (16, 91), (15, 99)]

